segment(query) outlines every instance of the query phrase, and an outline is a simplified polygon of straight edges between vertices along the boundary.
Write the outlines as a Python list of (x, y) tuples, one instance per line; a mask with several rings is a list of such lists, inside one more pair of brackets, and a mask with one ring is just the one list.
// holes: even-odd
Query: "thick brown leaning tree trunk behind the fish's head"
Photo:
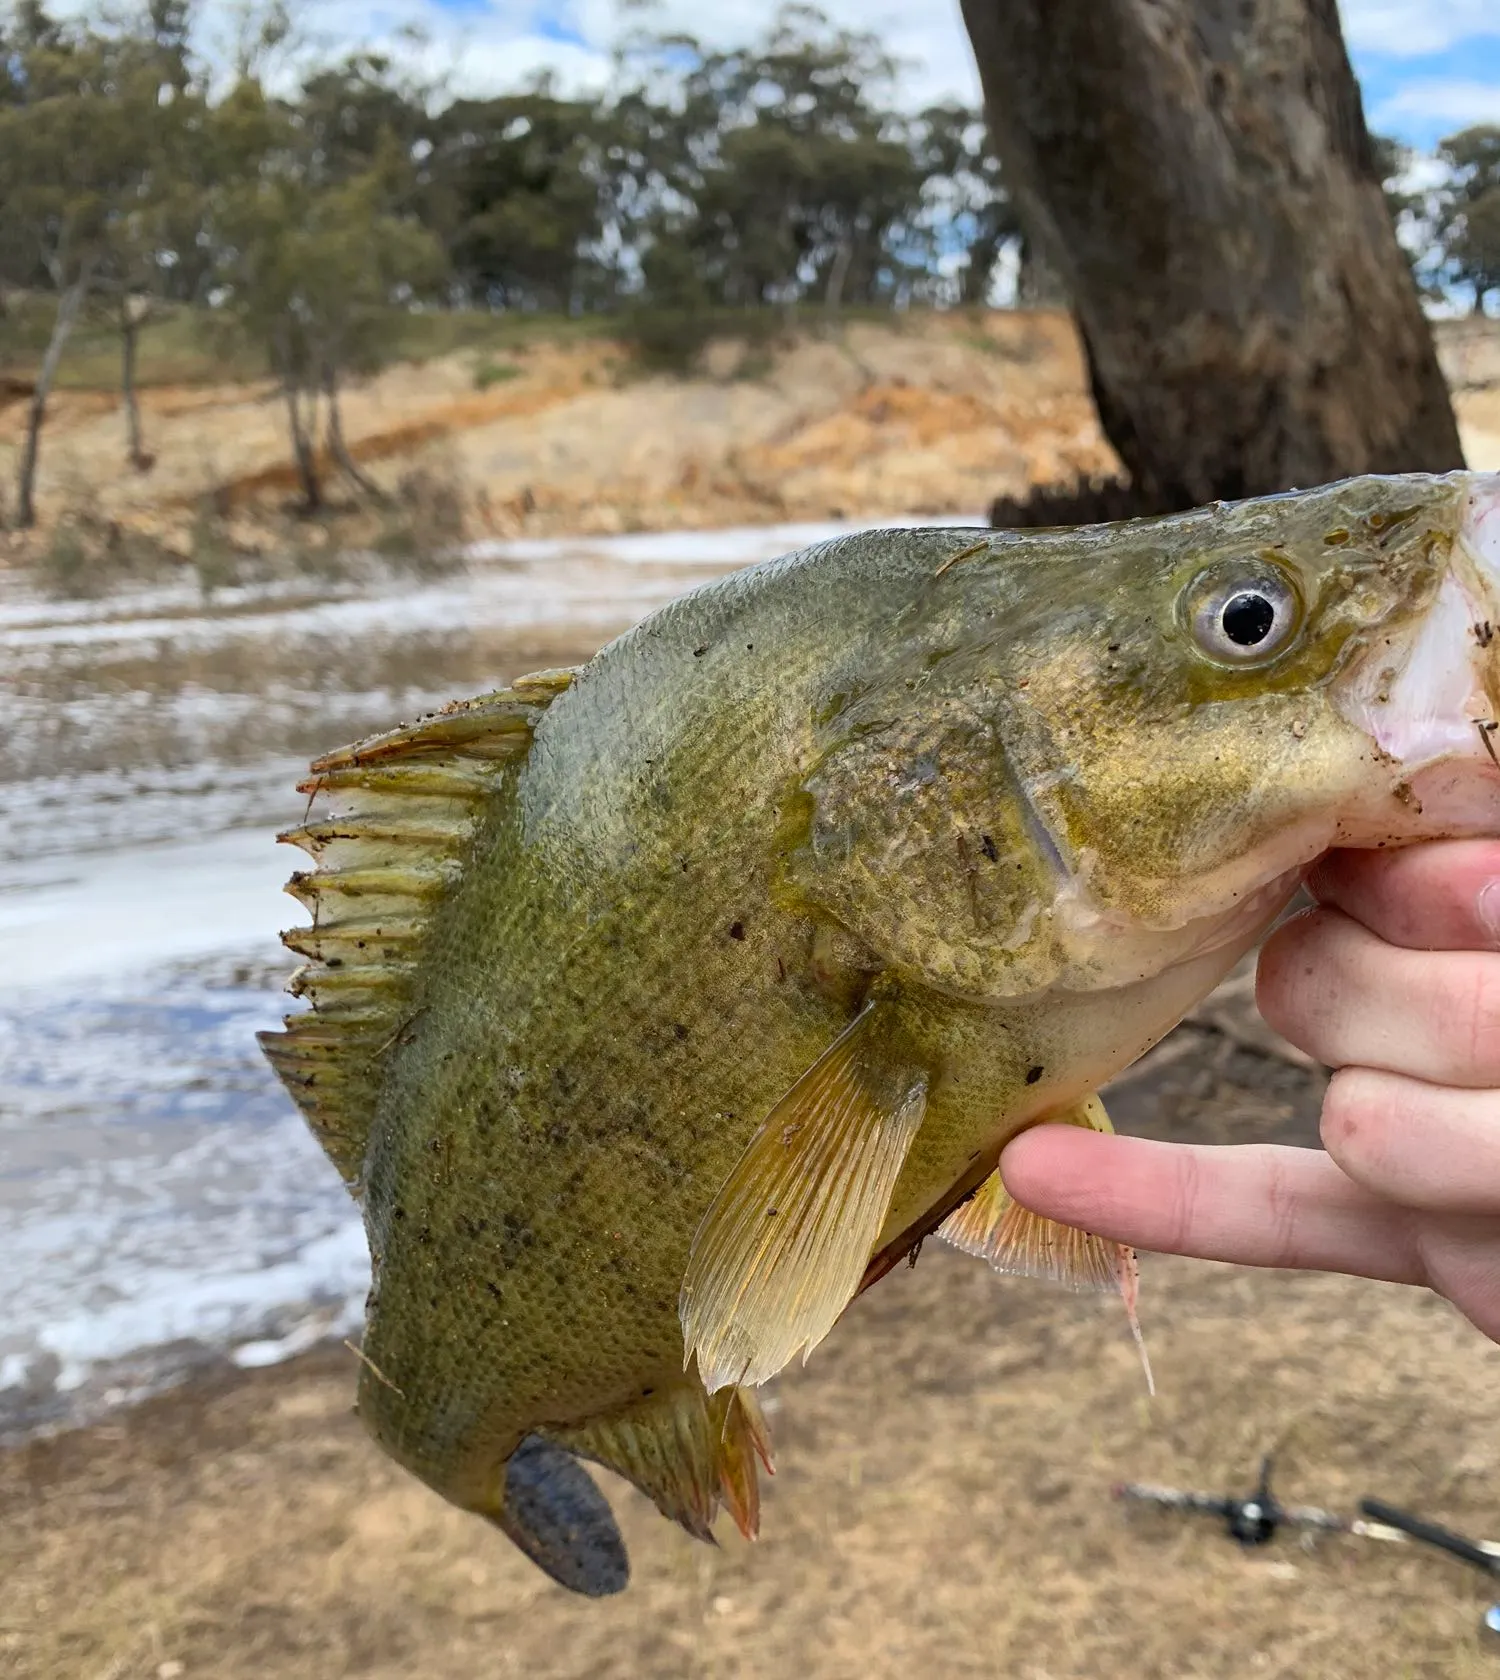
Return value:
[(1004, 180), (1161, 507), (1463, 465), (1335, 0), (962, 0)]

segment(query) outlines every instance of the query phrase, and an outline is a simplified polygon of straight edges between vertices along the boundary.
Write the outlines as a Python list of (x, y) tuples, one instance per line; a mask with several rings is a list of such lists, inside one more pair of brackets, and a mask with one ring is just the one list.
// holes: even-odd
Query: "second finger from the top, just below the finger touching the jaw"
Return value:
[(1267, 939), (1255, 996), (1278, 1033), (1329, 1067), (1500, 1084), (1500, 951), (1408, 951), (1315, 909)]

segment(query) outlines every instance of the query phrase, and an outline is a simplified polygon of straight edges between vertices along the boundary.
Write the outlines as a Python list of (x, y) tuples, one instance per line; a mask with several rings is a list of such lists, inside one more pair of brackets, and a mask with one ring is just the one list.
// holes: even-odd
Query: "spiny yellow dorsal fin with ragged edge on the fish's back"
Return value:
[(571, 670), (539, 670), (509, 689), (339, 748), (297, 791), (326, 813), (279, 835), (317, 867), (287, 892), (312, 912), (282, 942), (307, 958), (287, 990), (311, 1010), (260, 1033), (270, 1065), (344, 1183), (358, 1191), (380, 1087), (380, 1058), (412, 1018), (422, 941), (464, 872), (497, 778), (522, 759)]

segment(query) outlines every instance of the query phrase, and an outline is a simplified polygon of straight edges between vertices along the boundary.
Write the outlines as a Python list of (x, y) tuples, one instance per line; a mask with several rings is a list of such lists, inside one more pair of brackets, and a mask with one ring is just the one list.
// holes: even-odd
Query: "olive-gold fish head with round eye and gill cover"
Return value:
[(929, 984), (1231, 961), (1330, 847), (1500, 833), (1497, 474), (996, 539), (897, 632), (795, 869)]

